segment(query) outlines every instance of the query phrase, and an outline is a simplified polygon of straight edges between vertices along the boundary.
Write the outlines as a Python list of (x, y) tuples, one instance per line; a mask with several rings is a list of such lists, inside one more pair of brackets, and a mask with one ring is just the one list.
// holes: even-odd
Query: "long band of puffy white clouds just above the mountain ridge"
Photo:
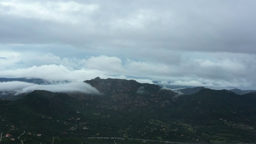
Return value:
[[(26, 55), (26, 54), (25, 54)], [(88, 58), (61, 58), (54, 54), (41, 54), (33, 59), (20, 59), (23, 63), (38, 64), (27, 68), (8, 69), (17, 62), (5, 59), (8, 66), (3, 66), (0, 77), (42, 78), (49, 81), (84, 81), (100, 78), (134, 79), (140, 83), (153, 83), (153, 80), (164, 85), (186, 86), (254, 86), (252, 77), (256, 67), (256, 57), (247, 54), (234, 55), (215, 60), (189, 58), (179, 65), (161, 62), (121, 60), (116, 56), (91, 56)], [(247, 59), (245, 59), (247, 58)], [(42, 62), (42, 63), (40, 63)], [(45, 63), (44, 65), (41, 65)], [(48, 63), (48, 64), (47, 64)], [(55, 64), (51, 64), (55, 63)], [(256, 63), (255, 63), (256, 64)], [(5, 68), (6, 67), (6, 68)]]

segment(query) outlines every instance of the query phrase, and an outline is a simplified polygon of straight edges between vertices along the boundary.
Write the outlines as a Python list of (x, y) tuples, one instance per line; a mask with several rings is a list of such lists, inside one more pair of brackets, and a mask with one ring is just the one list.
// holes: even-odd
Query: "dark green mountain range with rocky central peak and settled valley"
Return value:
[(256, 93), (203, 88), (179, 95), (134, 80), (84, 82), (101, 94), (36, 90), (18, 100), (0, 100), (0, 130), (3, 136), (12, 135), (2, 142), (11, 143), (10, 138), (24, 144), (141, 143), (135, 139), (156, 144), (256, 142)]

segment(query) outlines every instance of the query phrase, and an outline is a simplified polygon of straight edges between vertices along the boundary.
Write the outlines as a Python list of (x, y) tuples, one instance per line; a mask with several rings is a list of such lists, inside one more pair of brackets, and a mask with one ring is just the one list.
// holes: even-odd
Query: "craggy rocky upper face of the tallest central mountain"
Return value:
[(100, 91), (104, 102), (122, 108), (143, 107), (149, 104), (171, 105), (173, 97), (177, 94), (172, 90), (162, 89), (156, 84), (141, 84), (135, 80), (97, 77), (84, 82)]

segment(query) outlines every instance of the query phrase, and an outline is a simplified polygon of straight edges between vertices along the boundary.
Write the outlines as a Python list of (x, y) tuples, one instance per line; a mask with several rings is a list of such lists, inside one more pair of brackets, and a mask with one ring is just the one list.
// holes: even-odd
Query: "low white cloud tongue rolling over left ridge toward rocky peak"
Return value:
[(15, 92), (15, 95), (32, 92), (34, 90), (48, 90), (51, 92), (83, 92), (86, 94), (100, 94), (100, 92), (84, 82), (58, 83), (39, 85), (27, 82), (0, 82), (0, 92)]

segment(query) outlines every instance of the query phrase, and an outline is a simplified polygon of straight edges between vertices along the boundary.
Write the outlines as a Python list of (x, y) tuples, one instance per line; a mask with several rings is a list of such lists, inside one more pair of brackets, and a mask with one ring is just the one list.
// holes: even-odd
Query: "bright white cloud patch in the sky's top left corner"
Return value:
[(81, 4), (68, 2), (0, 2), (1, 14), (18, 16), (22, 18), (35, 18), (55, 22), (77, 23), (80, 17), (93, 14), (100, 6), (97, 4)]

